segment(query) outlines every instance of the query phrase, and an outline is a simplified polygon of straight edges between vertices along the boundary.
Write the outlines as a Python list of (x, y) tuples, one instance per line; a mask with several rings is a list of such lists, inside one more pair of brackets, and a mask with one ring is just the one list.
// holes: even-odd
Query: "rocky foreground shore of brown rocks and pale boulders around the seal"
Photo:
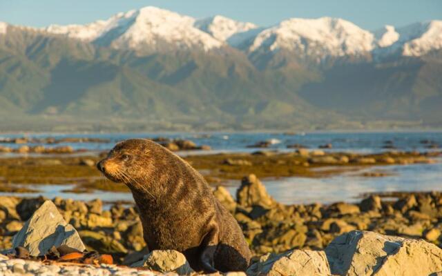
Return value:
[[(267, 194), (255, 175), (242, 179), (236, 199), (222, 186), (213, 193), (237, 219), (255, 255), (247, 275), (392, 275), (395, 271), (395, 275), (430, 275), (442, 271), (441, 193), (409, 193), (397, 199), (370, 195), (358, 204), (283, 205)], [(7, 255), (0, 256), (0, 270), (5, 275), (40, 270), (46, 275), (192, 273), (180, 270), (186, 268), (180, 253), (148, 253), (137, 208), (131, 204), (1, 197), (0, 220), (0, 248)], [(35, 233), (41, 237), (32, 237)], [(42, 246), (46, 236), (50, 239), (44, 239)], [(48, 251), (61, 244), (97, 255), (93, 261), (84, 253), (70, 262), (50, 259)], [(23, 257), (15, 250), (20, 246), (39, 257)], [(111, 264), (102, 262), (105, 255), (111, 256)]]

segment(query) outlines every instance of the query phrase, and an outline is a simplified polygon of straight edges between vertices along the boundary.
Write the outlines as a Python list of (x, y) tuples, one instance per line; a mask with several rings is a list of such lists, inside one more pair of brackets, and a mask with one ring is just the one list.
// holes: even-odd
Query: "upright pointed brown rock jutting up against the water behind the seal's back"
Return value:
[(276, 204), (276, 201), (267, 194), (265, 186), (256, 175), (249, 175), (242, 179), (241, 186), (236, 191), (236, 199), (238, 204), (244, 207), (254, 205), (271, 207)]

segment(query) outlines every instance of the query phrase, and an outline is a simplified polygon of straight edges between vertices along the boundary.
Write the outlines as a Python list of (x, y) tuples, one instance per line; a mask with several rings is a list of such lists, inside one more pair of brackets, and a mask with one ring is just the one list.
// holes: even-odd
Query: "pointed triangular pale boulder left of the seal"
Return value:
[(52, 246), (61, 245), (79, 251), (85, 250), (77, 230), (66, 223), (50, 200), (35, 211), (12, 239), (12, 248), (23, 246), (29, 250), (31, 256), (44, 255)]

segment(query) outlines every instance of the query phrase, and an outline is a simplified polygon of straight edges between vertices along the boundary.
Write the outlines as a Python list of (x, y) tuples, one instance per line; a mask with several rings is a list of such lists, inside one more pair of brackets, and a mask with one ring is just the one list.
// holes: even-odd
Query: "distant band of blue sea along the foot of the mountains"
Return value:
[[(84, 148), (87, 150), (108, 150), (117, 141), (128, 138), (154, 138), (168, 137), (171, 139), (191, 139), (198, 145), (209, 145), (217, 151), (254, 151), (247, 146), (256, 144), (258, 141), (273, 139), (280, 141), (271, 145), (271, 149), (287, 149), (287, 145), (301, 144), (308, 148), (318, 148), (324, 144), (332, 144), (332, 150), (351, 150), (354, 152), (378, 152), (385, 146), (385, 141), (392, 141), (392, 144), (400, 150), (427, 150), (421, 140), (434, 141), (442, 146), (442, 132), (311, 132), (298, 134), (283, 133), (249, 133), (249, 132), (205, 132), (205, 133), (112, 133), (112, 134), (27, 134), (27, 137), (90, 137), (109, 139), (109, 143), (62, 143), (45, 146), (73, 146), (75, 149)], [(0, 135), (1, 137), (23, 137), (23, 134)], [(22, 145), (2, 144), (17, 148)], [(30, 144), (35, 146), (36, 144)]]

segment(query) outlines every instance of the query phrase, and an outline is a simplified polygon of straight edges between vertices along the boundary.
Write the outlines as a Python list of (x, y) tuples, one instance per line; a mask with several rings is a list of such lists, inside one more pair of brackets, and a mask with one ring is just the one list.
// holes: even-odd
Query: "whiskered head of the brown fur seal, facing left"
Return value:
[(127, 185), (142, 183), (154, 164), (151, 154), (154, 144), (146, 139), (121, 141), (98, 162), (97, 168), (111, 181)]

